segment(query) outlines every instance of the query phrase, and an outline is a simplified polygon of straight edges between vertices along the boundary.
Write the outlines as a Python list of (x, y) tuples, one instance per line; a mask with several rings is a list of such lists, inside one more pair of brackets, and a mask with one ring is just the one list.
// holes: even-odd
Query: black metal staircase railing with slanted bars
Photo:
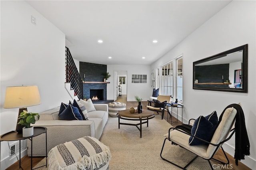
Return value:
[(65, 56), (66, 83), (70, 83), (70, 90), (74, 90), (74, 96), (84, 99), (83, 82), (68, 47), (65, 47)]

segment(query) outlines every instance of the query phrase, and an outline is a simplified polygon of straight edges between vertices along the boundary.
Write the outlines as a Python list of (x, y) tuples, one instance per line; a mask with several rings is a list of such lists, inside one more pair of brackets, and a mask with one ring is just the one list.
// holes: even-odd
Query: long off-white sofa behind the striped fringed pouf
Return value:
[[(63, 121), (58, 117), (60, 107), (40, 113), (34, 127), (47, 128), (47, 153), (56, 145), (84, 136), (100, 139), (108, 121), (108, 105), (94, 104), (96, 111), (88, 112), (86, 121)], [(46, 156), (45, 134), (33, 137), (33, 156)], [(31, 156), (31, 141), (27, 140), (28, 156)]]

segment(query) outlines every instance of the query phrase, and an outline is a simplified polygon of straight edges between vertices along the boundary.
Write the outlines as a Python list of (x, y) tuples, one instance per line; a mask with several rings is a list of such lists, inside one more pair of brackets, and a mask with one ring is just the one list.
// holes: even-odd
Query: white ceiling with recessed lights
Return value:
[[(66, 46), (78, 61), (148, 65), (230, 0), (27, 2), (66, 35)], [(102, 44), (97, 42), (99, 39), (103, 40)], [(152, 40), (158, 40), (158, 43), (152, 43)], [(112, 59), (108, 59), (109, 56)]]

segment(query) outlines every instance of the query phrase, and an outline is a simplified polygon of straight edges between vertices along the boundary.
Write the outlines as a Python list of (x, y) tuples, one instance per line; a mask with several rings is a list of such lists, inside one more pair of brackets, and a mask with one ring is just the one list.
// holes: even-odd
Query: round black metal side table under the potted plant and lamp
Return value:
[[(14, 140), (20, 141), (20, 140), (24, 140), (24, 139), (31, 140), (31, 170), (33, 170), (32, 169), (33, 168), (33, 166), (32, 166), (33, 137), (38, 136), (43, 133), (45, 133), (45, 144), (46, 144), (46, 165), (43, 165), (43, 166), (47, 167), (47, 128), (46, 127), (34, 127), (34, 135), (28, 136), (28, 137), (23, 137), (21, 133), (18, 133), (16, 131), (10, 131), (5, 134), (2, 134), (0, 136), (0, 152), (1, 152), (1, 142), (2, 141), (14, 141)], [(1, 158), (0, 158), (0, 160), (1, 160)], [(20, 160), (19, 160), (19, 164), (20, 164)], [(42, 166), (40, 166), (40, 167), (42, 167)], [(40, 167), (38, 167), (38, 168), (40, 168)], [(21, 165), (20, 165), (20, 168), (23, 170)], [(35, 169), (37, 169), (37, 168), (35, 168)]]

